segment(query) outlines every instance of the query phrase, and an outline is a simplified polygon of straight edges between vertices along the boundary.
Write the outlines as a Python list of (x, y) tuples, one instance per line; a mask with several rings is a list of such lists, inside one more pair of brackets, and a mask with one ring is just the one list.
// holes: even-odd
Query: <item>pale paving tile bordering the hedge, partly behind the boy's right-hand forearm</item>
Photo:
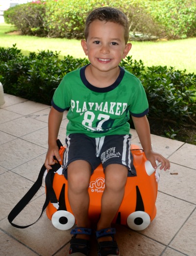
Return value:
[[(138, 145), (140, 143), (139, 138), (134, 139), (133, 142)], [(153, 134), (151, 134), (151, 143), (153, 150), (166, 158), (184, 144), (184, 142), (174, 141)]]

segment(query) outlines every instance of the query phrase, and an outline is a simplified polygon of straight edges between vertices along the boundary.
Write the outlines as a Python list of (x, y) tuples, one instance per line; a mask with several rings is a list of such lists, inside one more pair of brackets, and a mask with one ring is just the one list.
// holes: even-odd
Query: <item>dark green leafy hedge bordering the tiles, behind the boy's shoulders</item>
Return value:
[[(0, 48), (0, 82), (4, 92), (50, 105), (55, 88), (63, 76), (86, 65), (86, 58), (71, 56), (59, 59), (59, 53), (40, 51), (23, 56), (21, 50)], [(196, 75), (172, 67), (145, 68), (142, 60), (132, 57), (122, 60), (121, 66), (136, 75), (143, 83), (149, 102), (149, 118), (176, 127), (196, 124)], [(162, 129), (162, 128), (160, 128)]]

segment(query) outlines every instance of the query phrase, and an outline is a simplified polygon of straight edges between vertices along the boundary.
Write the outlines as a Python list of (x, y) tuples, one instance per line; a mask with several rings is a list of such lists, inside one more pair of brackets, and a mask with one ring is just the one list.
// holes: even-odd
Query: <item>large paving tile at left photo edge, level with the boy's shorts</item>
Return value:
[(0, 166), (11, 170), (47, 152), (47, 149), (21, 139), (0, 146)]

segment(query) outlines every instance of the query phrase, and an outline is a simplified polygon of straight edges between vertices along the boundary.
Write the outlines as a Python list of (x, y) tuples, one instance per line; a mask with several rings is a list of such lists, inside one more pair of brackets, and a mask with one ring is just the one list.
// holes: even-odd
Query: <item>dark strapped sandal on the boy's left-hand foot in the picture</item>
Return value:
[(73, 235), (70, 240), (69, 255), (72, 256), (88, 256), (90, 252), (90, 241), (87, 239), (76, 238), (77, 234), (91, 235), (91, 228), (74, 228), (71, 231)]

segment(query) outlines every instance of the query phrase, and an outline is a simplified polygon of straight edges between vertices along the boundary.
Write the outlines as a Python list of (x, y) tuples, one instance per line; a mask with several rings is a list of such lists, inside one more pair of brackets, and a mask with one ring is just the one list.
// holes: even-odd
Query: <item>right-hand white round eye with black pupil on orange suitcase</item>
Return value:
[(129, 214), (126, 219), (127, 225), (133, 230), (143, 230), (150, 224), (150, 216), (143, 211), (136, 211)]

